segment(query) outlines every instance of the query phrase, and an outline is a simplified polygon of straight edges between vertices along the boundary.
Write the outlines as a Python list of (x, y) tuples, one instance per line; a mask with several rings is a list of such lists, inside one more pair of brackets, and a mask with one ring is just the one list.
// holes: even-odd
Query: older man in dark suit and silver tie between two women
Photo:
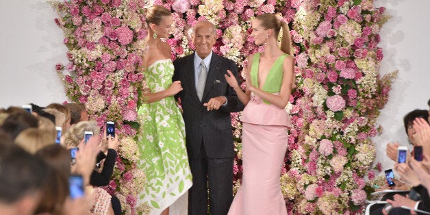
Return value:
[(186, 145), (192, 173), (188, 192), (188, 214), (207, 214), (209, 186), (210, 214), (227, 214), (233, 199), (233, 159), (235, 156), (230, 112), (242, 110), (236, 92), (224, 74), (238, 79), (232, 60), (212, 52), (215, 27), (209, 21), (194, 26), (195, 53), (175, 60), (173, 80), (181, 81), (180, 97), (186, 126)]

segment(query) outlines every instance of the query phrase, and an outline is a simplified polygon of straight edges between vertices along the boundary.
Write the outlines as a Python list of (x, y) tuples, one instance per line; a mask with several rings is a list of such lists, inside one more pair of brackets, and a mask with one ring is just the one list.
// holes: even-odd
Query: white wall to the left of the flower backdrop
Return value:
[(0, 2), (0, 107), (65, 101), (55, 64), (67, 62), (62, 31), (47, 1)]

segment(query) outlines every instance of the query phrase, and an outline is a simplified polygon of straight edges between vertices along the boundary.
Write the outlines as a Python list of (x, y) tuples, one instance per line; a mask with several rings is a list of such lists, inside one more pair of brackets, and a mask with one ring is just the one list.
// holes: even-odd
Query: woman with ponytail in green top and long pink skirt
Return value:
[[(277, 44), (283, 30), (281, 49)], [(243, 177), (229, 214), (286, 214), (280, 185), (281, 168), (292, 127), (285, 107), (294, 81), (287, 23), (275, 14), (262, 14), (252, 23), (255, 45), (264, 45), (262, 53), (249, 56), (246, 92), (236, 78), (225, 75), (245, 108), (242, 113)]]

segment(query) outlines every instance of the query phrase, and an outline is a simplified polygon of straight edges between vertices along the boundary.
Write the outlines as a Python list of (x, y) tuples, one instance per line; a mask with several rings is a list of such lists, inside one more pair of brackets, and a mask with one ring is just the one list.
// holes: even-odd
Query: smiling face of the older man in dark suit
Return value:
[(196, 53), (200, 58), (206, 58), (215, 45), (215, 32), (213, 25), (209, 23), (198, 23), (192, 34), (192, 42), (196, 47)]

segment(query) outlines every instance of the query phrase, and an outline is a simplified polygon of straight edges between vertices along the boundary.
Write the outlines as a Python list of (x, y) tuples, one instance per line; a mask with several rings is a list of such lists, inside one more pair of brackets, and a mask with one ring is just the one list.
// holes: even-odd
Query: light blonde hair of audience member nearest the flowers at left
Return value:
[(64, 134), (64, 146), (66, 148), (74, 148), (84, 139), (84, 131), (92, 131), (93, 136), (100, 134), (100, 128), (96, 121), (81, 121), (72, 125), (66, 134)]

